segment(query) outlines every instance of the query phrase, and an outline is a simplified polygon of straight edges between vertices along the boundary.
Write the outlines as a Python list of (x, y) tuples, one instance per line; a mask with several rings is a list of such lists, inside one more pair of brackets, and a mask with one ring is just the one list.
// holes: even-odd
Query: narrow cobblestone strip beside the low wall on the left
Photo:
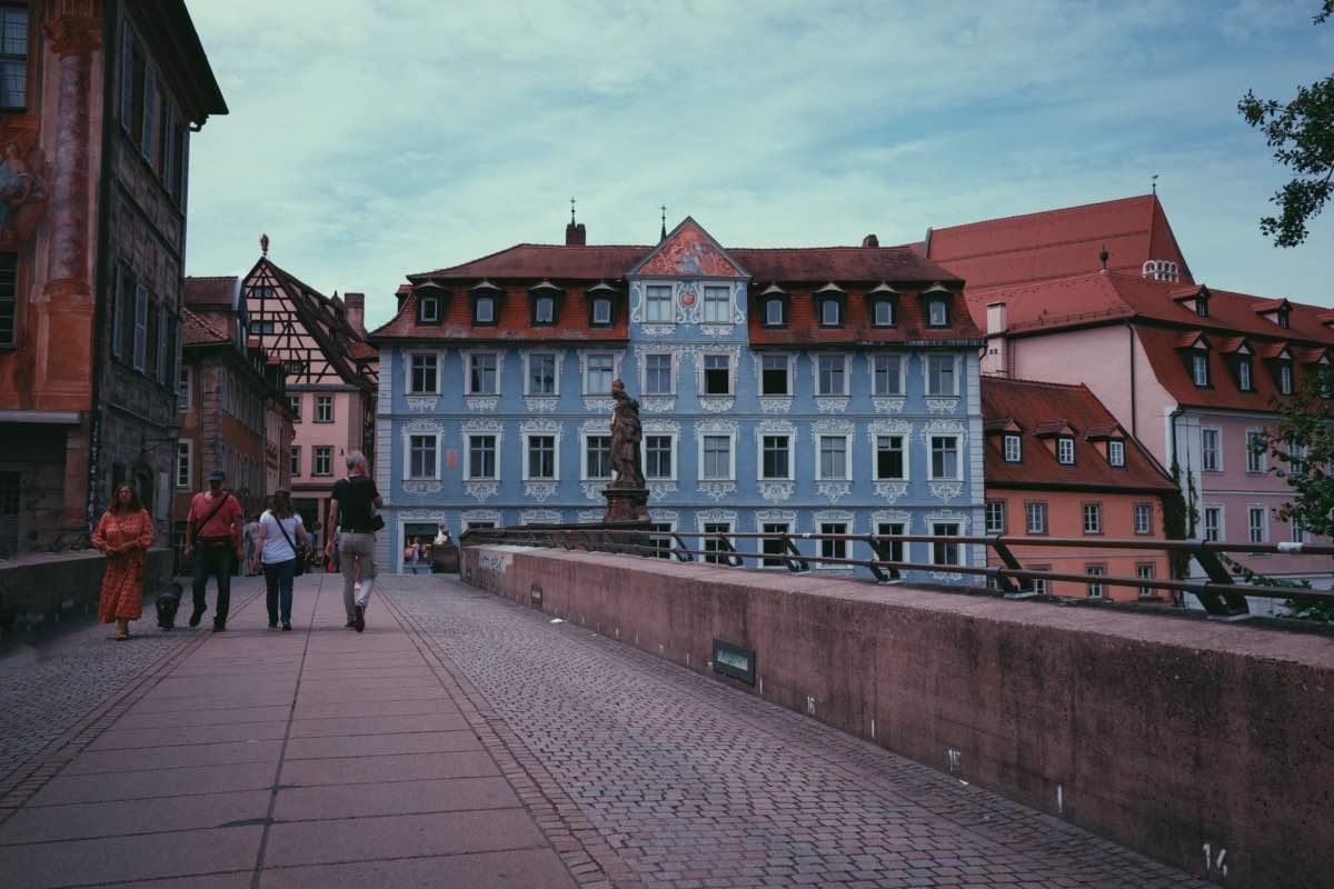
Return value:
[[(255, 578), (233, 578), (233, 606), (244, 604), (257, 589)], [(208, 604), (212, 608), (212, 584)], [(112, 638), (113, 625), (97, 622), (7, 640), (0, 649), (0, 784), (97, 705), (201, 632), (184, 626), (188, 602), (181, 612), (180, 626), (164, 633), (157, 629), (152, 600), (145, 601), (143, 618), (131, 624), (128, 642)]]

